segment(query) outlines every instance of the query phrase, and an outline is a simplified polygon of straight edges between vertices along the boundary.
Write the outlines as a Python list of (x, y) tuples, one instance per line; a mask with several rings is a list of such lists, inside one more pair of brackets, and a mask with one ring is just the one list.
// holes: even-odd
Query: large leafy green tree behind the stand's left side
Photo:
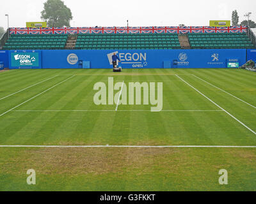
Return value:
[(70, 27), (70, 20), (73, 19), (70, 8), (61, 0), (47, 0), (41, 18), (47, 21), (49, 27)]

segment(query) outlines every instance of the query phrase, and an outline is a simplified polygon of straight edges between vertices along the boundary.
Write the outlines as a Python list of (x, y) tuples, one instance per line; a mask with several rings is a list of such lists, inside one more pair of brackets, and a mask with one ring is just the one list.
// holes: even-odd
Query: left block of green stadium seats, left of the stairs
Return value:
[(12, 34), (5, 43), (6, 50), (51, 50), (63, 49), (68, 34)]

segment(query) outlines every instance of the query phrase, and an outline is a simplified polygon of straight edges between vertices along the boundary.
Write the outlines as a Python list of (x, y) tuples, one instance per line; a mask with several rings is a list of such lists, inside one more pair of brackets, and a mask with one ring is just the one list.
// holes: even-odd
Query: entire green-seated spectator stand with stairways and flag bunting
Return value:
[[(132, 33), (129, 33), (129, 29)], [(222, 27), (11, 28), (10, 38), (5, 33), (0, 46), (3, 50), (255, 48), (255, 35), (251, 29), (250, 32), (246, 30), (247, 27), (243, 26), (224, 29)]]

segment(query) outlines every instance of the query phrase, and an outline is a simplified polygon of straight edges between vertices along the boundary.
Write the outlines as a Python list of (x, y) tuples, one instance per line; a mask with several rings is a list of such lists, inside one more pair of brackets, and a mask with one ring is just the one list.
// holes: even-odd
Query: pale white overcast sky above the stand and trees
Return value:
[[(42, 21), (40, 12), (46, 0), (2, 0), (0, 26), (26, 27), (26, 22)], [(256, 22), (255, 0), (64, 0), (70, 8), (72, 27), (86, 26), (177, 26), (209, 25), (209, 20), (231, 20), (237, 10), (239, 22), (251, 11)]]

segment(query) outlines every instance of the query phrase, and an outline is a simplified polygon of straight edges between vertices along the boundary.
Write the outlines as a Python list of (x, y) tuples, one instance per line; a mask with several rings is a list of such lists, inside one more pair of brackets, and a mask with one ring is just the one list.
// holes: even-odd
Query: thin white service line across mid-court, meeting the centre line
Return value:
[[(12, 110), (12, 112), (151, 112), (151, 110)], [(223, 112), (223, 110), (161, 110), (159, 112)]]

